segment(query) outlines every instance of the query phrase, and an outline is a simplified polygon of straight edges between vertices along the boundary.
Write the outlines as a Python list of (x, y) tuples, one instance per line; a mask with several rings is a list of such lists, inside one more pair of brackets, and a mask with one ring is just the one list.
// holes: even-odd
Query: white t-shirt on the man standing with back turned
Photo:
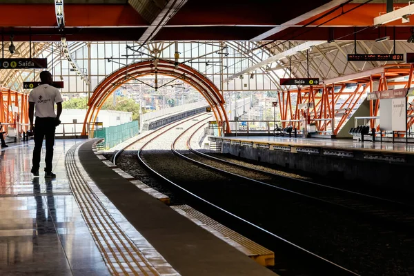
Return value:
[(34, 88), (29, 95), (29, 102), (34, 103), (35, 117), (56, 117), (55, 103), (63, 101), (59, 90), (48, 84), (42, 84)]

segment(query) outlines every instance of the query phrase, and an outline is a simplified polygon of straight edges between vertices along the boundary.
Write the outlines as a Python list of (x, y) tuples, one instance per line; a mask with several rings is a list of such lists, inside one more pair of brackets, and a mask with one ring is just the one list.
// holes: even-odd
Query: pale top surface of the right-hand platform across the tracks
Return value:
[[(223, 137), (218, 137), (223, 138)], [(317, 139), (317, 138), (289, 138), (289, 137), (249, 137), (249, 136), (237, 136), (237, 137), (225, 137), (225, 139), (235, 141), (246, 141), (256, 143), (268, 143), (279, 144), (289, 146), (311, 146), (321, 148), (342, 148), (349, 150), (374, 150), (381, 152), (395, 152), (403, 154), (414, 154), (414, 144), (404, 143), (391, 143), (380, 141), (355, 141), (352, 139)]]

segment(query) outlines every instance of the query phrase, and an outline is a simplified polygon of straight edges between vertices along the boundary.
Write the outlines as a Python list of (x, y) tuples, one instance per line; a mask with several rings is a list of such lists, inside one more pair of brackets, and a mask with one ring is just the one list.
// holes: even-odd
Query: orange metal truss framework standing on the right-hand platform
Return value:
[[(288, 121), (294, 128), (299, 128), (301, 119), (308, 119), (311, 123), (315, 123), (317, 132), (325, 132), (328, 126), (333, 130), (333, 135), (337, 135), (339, 130), (344, 126), (346, 118), (357, 105), (359, 99), (367, 92), (374, 92), (374, 83), (378, 84), (377, 91), (388, 90), (390, 86), (402, 86), (411, 88), (413, 84), (413, 66), (411, 65), (390, 65), (384, 67), (384, 72), (380, 74), (366, 75), (357, 79), (341, 81), (337, 83), (325, 83), (319, 86), (308, 86), (295, 90), (282, 91), (279, 96), (279, 111), (282, 118), (282, 126), (286, 126)], [(363, 75), (363, 74), (362, 74)], [(395, 81), (396, 77), (407, 77), (408, 81)], [(355, 84), (353, 92), (344, 92), (346, 85)], [(339, 87), (339, 91), (335, 92), (335, 88)], [(292, 95), (296, 95), (296, 107), (293, 110)], [(346, 100), (340, 108), (335, 106), (341, 96), (346, 95)], [(313, 108), (306, 110), (299, 109), (301, 103), (311, 103)], [(370, 101), (370, 117), (378, 116), (380, 110), (380, 100)], [(408, 111), (408, 115), (413, 115), (412, 110)], [(339, 123), (335, 126), (335, 117), (339, 117)], [(414, 124), (414, 117), (407, 118), (407, 127), (410, 128)], [(371, 128), (380, 130), (376, 119), (371, 119)], [(407, 129), (408, 129), (407, 128)]]

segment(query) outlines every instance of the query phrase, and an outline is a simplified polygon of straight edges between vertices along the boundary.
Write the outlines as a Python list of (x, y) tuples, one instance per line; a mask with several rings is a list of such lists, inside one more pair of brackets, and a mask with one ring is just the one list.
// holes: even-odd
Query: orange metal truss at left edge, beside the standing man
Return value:
[[(0, 122), (11, 124), (15, 128), (18, 121), (20, 124), (19, 132), (28, 130), (28, 126), (21, 124), (29, 122), (29, 95), (3, 86), (0, 86), (0, 94)], [(17, 107), (18, 112), (13, 112), (13, 107)], [(7, 132), (7, 128), (4, 129)]]

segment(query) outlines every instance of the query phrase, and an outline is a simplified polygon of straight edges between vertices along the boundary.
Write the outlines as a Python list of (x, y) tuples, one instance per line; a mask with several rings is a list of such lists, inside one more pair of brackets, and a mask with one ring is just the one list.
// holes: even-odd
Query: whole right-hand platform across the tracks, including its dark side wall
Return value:
[[(289, 137), (208, 137), (222, 153), (373, 185), (413, 190), (414, 144)], [(398, 177), (398, 181), (395, 181)]]

